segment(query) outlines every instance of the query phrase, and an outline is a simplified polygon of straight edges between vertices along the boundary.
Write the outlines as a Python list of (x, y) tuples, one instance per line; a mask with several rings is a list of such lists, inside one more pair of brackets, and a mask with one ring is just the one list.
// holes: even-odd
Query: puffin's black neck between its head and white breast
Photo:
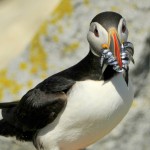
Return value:
[(95, 56), (91, 50), (88, 55), (83, 58), (76, 65), (58, 73), (63, 77), (72, 79), (75, 81), (83, 80), (109, 80), (115, 74), (115, 71), (111, 68), (107, 68), (104, 74), (102, 75), (102, 68), (100, 66), (100, 57)]

